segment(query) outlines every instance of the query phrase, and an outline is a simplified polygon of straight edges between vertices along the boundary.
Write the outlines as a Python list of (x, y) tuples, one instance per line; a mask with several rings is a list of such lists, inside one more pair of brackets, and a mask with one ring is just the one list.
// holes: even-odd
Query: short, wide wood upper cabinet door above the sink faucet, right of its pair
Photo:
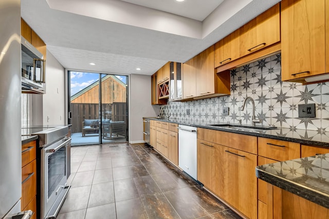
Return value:
[(240, 57), (280, 42), (280, 4), (240, 28)]

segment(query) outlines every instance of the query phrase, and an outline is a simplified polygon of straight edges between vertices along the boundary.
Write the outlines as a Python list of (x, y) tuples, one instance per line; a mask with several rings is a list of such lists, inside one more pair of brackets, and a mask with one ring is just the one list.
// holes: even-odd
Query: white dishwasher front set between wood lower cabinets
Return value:
[(178, 125), (178, 166), (197, 180), (196, 127)]

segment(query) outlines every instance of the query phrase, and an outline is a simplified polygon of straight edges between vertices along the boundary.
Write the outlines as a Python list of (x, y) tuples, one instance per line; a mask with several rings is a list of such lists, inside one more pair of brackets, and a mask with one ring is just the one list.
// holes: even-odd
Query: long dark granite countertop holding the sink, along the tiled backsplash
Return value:
[(282, 140), (282, 141), (296, 142), (296, 143), (300, 143), (300, 144), (304, 144), (304, 145), (329, 147), (329, 136), (327, 136), (326, 134), (321, 132), (321, 130), (320, 131), (302, 130), (302, 129), (291, 130), (288, 128), (277, 128), (277, 129), (271, 129), (271, 130), (243, 130), (243, 129), (237, 130), (237, 129), (230, 129), (230, 128), (225, 128), (225, 127), (211, 126), (211, 125), (223, 124), (223, 123), (194, 121), (194, 120), (181, 120), (181, 119), (175, 119), (175, 118), (169, 118), (169, 120), (158, 119), (155, 117), (143, 117), (143, 118), (150, 118), (151, 120), (177, 123), (180, 125), (188, 125), (188, 126), (194, 126), (194, 127), (199, 127), (199, 128), (206, 128), (206, 129), (227, 131), (227, 132), (233, 132), (233, 133), (239, 133), (239, 134), (259, 136), (259, 137), (273, 138), (273, 139)]

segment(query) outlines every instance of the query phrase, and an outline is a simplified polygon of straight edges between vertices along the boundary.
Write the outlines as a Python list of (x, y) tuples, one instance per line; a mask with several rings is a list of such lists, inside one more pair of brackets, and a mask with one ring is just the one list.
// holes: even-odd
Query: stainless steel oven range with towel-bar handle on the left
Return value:
[(67, 185), (67, 162), (71, 138), (68, 127), (43, 128), (35, 132), (39, 136), (38, 158), (40, 159), (40, 218), (56, 218), (70, 185)]

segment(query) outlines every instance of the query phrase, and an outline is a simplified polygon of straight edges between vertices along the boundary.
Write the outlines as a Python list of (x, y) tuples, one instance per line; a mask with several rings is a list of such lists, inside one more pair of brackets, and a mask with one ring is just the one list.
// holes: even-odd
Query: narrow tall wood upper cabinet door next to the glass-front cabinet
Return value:
[(183, 98), (196, 96), (196, 56), (183, 64)]

